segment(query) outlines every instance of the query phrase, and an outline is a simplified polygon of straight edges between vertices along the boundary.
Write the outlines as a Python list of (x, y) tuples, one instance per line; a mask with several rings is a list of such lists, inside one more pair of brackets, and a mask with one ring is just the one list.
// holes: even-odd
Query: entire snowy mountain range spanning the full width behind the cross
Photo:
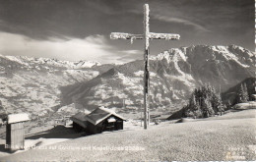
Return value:
[[(254, 77), (254, 57), (254, 52), (236, 45), (173, 48), (151, 57), (151, 109), (182, 107), (191, 91), (203, 83), (224, 91)], [(142, 60), (100, 65), (1, 55), (0, 81), (5, 110), (34, 117), (71, 109), (75, 113), (83, 107), (92, 110), (98, 105), (131, 112), (143, 103)]]

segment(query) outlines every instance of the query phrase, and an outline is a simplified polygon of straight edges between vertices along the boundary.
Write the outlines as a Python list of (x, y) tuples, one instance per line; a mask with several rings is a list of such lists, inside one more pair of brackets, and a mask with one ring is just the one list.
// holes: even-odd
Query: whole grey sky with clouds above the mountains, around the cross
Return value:
[(90, 60), (142, 59), (144, 41), (112, 40), (111, 32), (150, 31), (180, 40), (152, 40), (150, 55), (181, 46), (235, 44), (254, 51), (254, 0), (0, 0), (0, 54)]

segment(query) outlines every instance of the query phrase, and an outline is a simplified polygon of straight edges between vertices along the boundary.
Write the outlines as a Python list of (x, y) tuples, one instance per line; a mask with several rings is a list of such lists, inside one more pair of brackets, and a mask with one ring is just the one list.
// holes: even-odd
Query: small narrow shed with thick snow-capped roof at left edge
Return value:
[(24, 123), (29, 120), (29, 115), (26, 113), (8, 115), (6, 125), (6, 148), (11, 151), (24, 149)]

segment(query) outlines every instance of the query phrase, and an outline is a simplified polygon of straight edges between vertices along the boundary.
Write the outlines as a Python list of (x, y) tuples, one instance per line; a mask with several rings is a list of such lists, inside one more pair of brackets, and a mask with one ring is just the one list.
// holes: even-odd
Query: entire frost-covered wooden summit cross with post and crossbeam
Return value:
[[(150, 73), (149, 73), (149, 46), (150, 39), (165, 39), (165, 40), (178, 40), (179, 34), (173, 33), (155, 33), (150, 32), (150, 9), (149, 5), (144, 5), (144, 34), (133, 34), (133, 33), (123, 33), (123, 32), (111, 32), (111, 39), (145, 39), (145, 53), (144, 53), (144, 129), (150, 123), (150, 113), (149, 113), (149, 83), (150, 83)], [(148, 122), (147, 122), (148, 121)]]

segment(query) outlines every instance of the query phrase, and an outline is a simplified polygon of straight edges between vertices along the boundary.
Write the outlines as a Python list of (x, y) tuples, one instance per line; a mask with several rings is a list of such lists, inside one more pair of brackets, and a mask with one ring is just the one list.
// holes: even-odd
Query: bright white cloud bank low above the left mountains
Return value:
[(84, 39), (66, 37), (35, 40), (30, 37), (0, 32), (0, 53), (3, 55), (56, 58), (60, 60), (91, 60), (102, 64), (125, 63), (134, 60), (137, 50), (117, 50), (103, 35)]

